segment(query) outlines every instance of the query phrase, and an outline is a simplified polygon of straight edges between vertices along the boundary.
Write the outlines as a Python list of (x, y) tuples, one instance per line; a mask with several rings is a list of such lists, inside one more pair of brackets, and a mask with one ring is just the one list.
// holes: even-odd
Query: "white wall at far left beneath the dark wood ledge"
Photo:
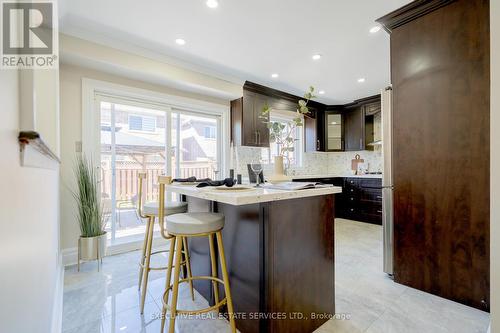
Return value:
[(60, 310), (59, 172), (19, 165), (18, 84), (0, 71), (0, 332), (47, 333)]

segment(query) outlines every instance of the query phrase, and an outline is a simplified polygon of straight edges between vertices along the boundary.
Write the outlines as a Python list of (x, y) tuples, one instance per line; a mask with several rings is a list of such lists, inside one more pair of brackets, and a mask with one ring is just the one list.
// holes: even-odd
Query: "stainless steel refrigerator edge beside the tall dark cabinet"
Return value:
[(392, 88), (382, 90), (382, 229), (384, 238), (384, 272), (393, 274), (394, 215), (392, 182)]

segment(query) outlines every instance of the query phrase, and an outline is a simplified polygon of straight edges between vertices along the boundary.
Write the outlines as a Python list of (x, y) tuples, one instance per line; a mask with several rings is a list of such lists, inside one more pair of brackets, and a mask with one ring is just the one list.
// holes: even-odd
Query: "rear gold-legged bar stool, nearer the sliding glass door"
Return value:
[[(142, 245), (142, 256), (141, 261), (139, 263), (139, 290), (141, 290), (141, 314), (144, 313), (144, 302), (146, 300), (147, 287), (148, 287), (148, 277), (149, 272), (152, 270), (166, 270), (167, 266), (162, 267), (151, 267), (151, 256), (160, 253), (166, 253), (168, 250), (159, 250), (152, 252), (153, 248), (153, 231), (154, 231), (154, 221), (156, 216), (158, 216), (158, 202), (148, 202), (143, 205), (142, 200), (142, 186), (143, 181), (146, 179), (145, 172), (138, 173), (138, 198), (137, 198), (137, 214), (146, 221), (146, 232), (144, 233), (144, 242)], [(163, 201), (164, 202), (164, 201)], [(163, 204), (163, 214), (178, 214), (184, 213), (187, 211), (187, 203), (186, 202), (164, 202)], [(162, 221), (162, 220), (159, 220)], [(163, 223), (160, 223), (160, 229), (162, 229)], [(163, 238), (165, 238), (162, 232)], [(171, 236), (168, 236), (173, 238)], [(166, 239), (170, 239), (166, 238)], [(182, 251), (184, 254), (184, 260), (181, 262), (182, 265), (189, 266), (189, 255), (187, 248), (184, 248)], [(191, 275), (191, 268), (189, 266), (188, 274)], [(141, 289), (142, 286), (142, 289)], [(192, 295), (194, 298), (194, 292), (192, 291)]]

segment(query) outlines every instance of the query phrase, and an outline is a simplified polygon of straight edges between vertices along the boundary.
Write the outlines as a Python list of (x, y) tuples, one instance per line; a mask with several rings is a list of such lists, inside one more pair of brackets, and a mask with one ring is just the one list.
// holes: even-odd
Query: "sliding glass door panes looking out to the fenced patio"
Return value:
[(221, 119), (118, 98), (99, 99), (98, 109), (106, 230), (112, 243), (135, 241), (145, 231), (137, 215), (138, 173), (147, 174), (146, 202), (158, 199), (160, 174), (213, 178), (221, 161)]

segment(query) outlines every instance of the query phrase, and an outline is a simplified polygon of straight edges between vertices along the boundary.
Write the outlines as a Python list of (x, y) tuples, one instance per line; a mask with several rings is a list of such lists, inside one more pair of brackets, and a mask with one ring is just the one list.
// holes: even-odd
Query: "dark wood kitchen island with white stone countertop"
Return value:
[[(334, 194), (340, 187), (241, 191), (170, 185), (190, 212), (225, 215), (224, 247), (244, 333), (312, 332), (335, 314)], [(194, 275), (210, 275), (206, 237), (189, 240)], [(208, 281), (196, 290), (213, 304)], [(219, 290), (223, 294), (223, 288)]]

